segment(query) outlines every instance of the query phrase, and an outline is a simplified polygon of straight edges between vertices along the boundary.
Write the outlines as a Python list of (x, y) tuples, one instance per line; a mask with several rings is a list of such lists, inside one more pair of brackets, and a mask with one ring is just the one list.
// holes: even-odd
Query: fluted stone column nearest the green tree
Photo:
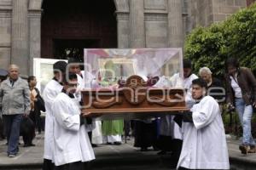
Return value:
[(168, 0), (168, 47), (183, 48), (182, 1)]

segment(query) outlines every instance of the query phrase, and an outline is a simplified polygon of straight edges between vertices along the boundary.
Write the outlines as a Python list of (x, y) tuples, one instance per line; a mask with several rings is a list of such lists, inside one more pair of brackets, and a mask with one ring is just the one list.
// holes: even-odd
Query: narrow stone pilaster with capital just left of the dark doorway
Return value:
[(33, 74), (33, 59), (41, 58), (41, 9), (30, 9), (29, 18), (29, 73)]

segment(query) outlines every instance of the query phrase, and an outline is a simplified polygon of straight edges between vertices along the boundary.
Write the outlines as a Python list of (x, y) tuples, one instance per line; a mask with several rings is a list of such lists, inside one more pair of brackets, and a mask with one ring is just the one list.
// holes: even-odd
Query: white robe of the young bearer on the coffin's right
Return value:
[(193, 105), (193, 122), (183, 122), (183, 148), (177, 168), (230, 169), (218, 103), (211, 96)]

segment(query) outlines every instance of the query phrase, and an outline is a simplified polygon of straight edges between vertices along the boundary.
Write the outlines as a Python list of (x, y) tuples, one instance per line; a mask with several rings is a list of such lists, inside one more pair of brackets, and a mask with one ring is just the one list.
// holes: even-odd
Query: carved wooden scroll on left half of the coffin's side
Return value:
[(120, 105), (122, 103), (123, 103), (123, 99), (112, 97), (104, 101), (95, 100), (92, 102), (92, 106), (97, 109), (106, 109), (108, 107), (111, 107), (112, 105)]

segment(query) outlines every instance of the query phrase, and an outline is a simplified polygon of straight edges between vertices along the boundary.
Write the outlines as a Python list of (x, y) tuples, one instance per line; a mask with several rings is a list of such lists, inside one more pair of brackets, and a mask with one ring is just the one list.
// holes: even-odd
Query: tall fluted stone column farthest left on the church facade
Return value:
[(28, 57), (28, 26), (27, 0), (13, 0), (11, 63), (20, 66), (20, 74), (27, 75), (29, 70)]

